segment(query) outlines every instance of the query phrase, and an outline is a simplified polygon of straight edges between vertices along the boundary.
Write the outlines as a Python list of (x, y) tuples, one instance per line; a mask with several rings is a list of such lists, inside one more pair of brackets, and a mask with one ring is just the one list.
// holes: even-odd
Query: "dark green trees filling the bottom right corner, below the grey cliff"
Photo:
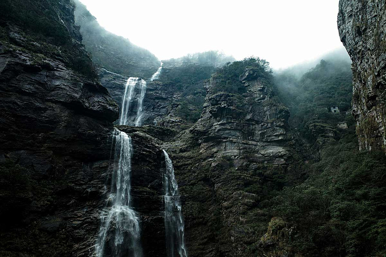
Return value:
[(296, 226), (291, 242), (304, 256), (386, 254), (386, 158), (359, 153), (353, 134), (322, 150), (310, 178), (285, 188), (272, 202), (273, 215)]

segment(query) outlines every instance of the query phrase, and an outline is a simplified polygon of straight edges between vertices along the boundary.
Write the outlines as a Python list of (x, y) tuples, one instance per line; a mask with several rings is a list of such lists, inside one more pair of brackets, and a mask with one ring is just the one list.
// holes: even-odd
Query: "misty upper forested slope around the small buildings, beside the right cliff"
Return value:
[(291, 113), (289, 123), (303, 138), (315, 142), (319, 137), (326, 137), (328, 130), (336, 134), (339, 122), (354, 123), (351, 115), (329, 110), (333, 105), (338, 105), (341, 112), (351, 108), (352, 72), (346, 61), (321, 60), (300, 78), (283, 72), (274, 80), (277, 95)]

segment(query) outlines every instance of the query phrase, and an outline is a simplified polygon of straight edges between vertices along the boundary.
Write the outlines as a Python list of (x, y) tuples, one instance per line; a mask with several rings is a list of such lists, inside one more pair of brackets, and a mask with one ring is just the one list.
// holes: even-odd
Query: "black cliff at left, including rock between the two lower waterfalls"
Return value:
[[(10, 13), (0, 17), (0, 255), (89, 256), (115, 166), (110, 153), (118, 105), (95, 80), (69, 1), (5, 2), (1, 12)], [(31, 26), (43, 20), (48, 30), (25, 25), (19, 17), (25, 12)], [(162, 151), (144, 133), (128, 133), (144, 253), (165, 256)]]

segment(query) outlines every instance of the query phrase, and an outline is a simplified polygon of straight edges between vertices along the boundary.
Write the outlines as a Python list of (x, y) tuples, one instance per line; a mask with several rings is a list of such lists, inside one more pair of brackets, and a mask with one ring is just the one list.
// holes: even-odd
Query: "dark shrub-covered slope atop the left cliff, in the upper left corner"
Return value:
[(96, 78), (91, 58), (78, 42), (81, 36), (73, 24), (72, 5), (70, 0), (1, 1), (0, 42), (10, 49), (61, 60)]

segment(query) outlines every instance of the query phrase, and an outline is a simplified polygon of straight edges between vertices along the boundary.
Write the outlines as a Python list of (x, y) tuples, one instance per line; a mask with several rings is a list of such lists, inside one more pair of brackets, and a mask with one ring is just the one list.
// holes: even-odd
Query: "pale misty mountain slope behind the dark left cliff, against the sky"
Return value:
[(75, 21), (80, 26), (82, 43), (92, 60), (109, 71), (131, 77), (150, 78), (160, 61), (148, 50), (102, 28), (79, 1), (75, 1)]

